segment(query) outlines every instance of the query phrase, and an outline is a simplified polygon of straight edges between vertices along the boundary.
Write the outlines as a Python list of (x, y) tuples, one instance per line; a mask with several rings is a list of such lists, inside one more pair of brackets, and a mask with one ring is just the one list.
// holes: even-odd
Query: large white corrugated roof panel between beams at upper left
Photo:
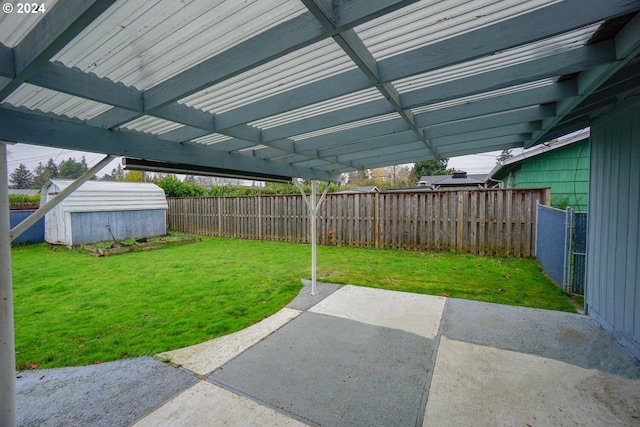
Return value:
[(305, 10), (295, 0), (119, 0), (52, 60), (145, 90)]

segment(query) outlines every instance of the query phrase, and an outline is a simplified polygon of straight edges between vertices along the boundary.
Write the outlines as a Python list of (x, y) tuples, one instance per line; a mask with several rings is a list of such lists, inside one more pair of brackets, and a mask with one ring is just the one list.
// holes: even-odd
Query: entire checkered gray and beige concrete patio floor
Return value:
[(19, 425), (640, 426), (640, 362), (588, 317), (319, 290), (156, 358), (20, 372)]

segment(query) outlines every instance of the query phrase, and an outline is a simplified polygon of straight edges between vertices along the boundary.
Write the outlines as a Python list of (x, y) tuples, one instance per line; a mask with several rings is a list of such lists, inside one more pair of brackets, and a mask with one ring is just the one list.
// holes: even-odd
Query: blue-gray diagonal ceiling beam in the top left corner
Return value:
[(15, 75), (0, 90), (4, 100), (31, 75), (45, 66), (67, 43), (84, 30), (115, 0), (59, 0), (13, 48)]

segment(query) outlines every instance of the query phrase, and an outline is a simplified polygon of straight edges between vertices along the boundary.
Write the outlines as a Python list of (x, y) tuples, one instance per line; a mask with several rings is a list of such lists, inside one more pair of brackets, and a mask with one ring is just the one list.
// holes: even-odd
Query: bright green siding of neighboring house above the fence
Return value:
[(589, 139), (505, 167), (494, 179), (511, 177), (512, 188), (551, 187), (553, 207), (586, 212), (589, 202)]

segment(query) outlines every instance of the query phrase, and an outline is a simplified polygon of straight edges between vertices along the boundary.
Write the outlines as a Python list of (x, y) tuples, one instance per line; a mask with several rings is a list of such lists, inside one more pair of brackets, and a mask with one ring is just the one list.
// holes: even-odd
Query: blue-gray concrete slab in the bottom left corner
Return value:
[(197, 378), (151, 357), (18, 372), (19, 426), (125, 426)]

